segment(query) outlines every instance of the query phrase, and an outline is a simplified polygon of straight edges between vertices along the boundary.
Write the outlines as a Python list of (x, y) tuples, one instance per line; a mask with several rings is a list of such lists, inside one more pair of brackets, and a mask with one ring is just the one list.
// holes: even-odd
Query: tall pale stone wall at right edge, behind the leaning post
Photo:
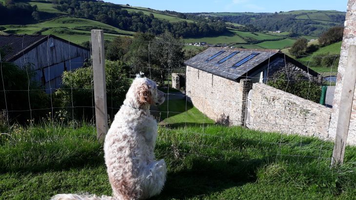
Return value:
[[(356, 45), (356, 0), (349, 0), (347, 5), (347, 13), (345, 20), (344, 37), (341, 44), (340, 61), (337, 69), (337, 80), (333, 101), (333, 113), (330, 122), (330, 137), (335, 138), (336, 126), (338, 120), (338, 113), (340, 108), (341, 91), (343, 84), (343, 77), (347, 63), (347, 56), (349, 53), (349, 46)], [(347, 83), (345, 83), (347, 84)], [(356, 91), (356, 90), (355, 90)], [(349, 133), (347, 143), (356, 144), (356, 93), (354, 93), (354, 100), (351, 112), (351, 120), (349, 125)]]

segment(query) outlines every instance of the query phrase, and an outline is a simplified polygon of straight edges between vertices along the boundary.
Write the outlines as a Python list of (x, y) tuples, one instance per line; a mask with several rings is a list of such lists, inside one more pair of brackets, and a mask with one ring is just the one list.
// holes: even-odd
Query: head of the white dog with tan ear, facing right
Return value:
[(140, 107), (147, 104), (159, 105), (164, 102), (164, 93), (157, 89), (157, 84), (153, 80), (149, 80), (147, 78), (136, 78), (131, 87), (134, 87), (135, 98)]

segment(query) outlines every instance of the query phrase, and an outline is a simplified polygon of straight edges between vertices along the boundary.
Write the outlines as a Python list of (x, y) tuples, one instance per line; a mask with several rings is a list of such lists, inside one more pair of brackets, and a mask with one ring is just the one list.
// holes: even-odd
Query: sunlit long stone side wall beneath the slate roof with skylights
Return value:
[(186, 95), (193, 105), (215, 121), (243, 125), (250, 80), (239, 83), (196, 68), (186, 68)]

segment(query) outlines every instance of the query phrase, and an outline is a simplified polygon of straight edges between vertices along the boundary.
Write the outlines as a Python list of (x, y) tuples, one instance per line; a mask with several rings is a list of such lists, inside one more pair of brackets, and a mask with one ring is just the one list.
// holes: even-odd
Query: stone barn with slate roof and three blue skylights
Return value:
[(321, 80), (318, 73), (279, 50), (211, 47), (185, 64), (188, 100), (209, 118), (227, 125), (244, 125), (246, 97), (253, 83), (266, 83), (281, 72), (289, 80), (297, 75)]

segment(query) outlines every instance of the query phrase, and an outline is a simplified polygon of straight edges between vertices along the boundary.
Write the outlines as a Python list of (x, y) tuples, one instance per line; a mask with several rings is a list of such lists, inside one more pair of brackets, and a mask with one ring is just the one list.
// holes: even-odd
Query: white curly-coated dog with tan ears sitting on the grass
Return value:
[(150, 105), (161, 104), (164, 93), (154, 81), (136, 78), (115, 115), (105, 143), (105, 164), (114, 197), (59, 194), (52, 200), (138, 200), (158, 195), (166, 180), (166, 163), (155, 160), (157, 121)]

